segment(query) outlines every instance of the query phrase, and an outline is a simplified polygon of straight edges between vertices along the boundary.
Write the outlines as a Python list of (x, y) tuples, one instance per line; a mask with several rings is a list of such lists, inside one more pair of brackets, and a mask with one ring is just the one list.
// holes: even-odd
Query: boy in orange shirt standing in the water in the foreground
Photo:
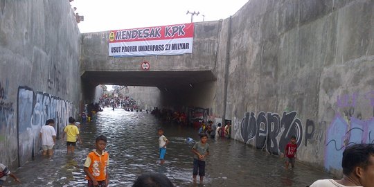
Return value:
[(84, 172), (88, 180), (87, 186), (108, 186), (109, 154), (105, 152), (107, 137), (100, 135), (96, 138), (96, 150), (92, 150), (84, 162)]

